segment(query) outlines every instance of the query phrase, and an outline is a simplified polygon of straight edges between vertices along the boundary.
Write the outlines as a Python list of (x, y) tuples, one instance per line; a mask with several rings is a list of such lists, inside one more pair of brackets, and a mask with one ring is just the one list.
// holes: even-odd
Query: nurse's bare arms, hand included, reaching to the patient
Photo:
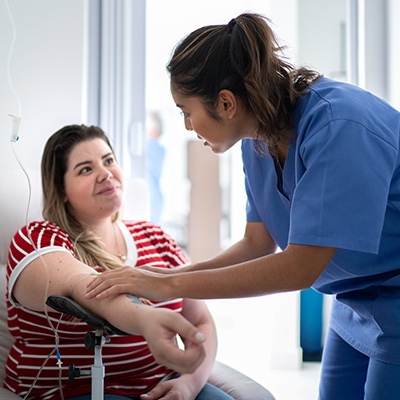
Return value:
[(264, 225), (247, 224), (244, 238), (216, 257), (164, 274), (125, 268), (106, 272), (88, 287), (88, 298), (132, 293), (151, 300), (174, 297), (215, 299), (261, 296), (309, 288), (336, 249), (276, 244)]

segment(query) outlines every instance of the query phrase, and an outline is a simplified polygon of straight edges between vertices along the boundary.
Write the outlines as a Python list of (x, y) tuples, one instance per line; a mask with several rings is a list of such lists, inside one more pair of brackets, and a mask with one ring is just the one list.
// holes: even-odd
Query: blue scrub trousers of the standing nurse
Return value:
[(369, 358), (329, 329), (322, 356), (319, 399), (400, 399), (400, 365)]

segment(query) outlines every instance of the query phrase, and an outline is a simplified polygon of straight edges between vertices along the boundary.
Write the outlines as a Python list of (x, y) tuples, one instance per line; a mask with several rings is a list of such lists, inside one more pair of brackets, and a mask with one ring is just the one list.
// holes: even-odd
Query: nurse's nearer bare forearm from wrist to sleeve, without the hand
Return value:
[[(166, 276), (160, 282), (161, 291), (166, 297), (214, 299), (308, 289), (329, 264), (336, 250), (332, 247), (289, 244), (280, 253), (235, 265)], [(140, 288), (136, 289), (140, 293)]]

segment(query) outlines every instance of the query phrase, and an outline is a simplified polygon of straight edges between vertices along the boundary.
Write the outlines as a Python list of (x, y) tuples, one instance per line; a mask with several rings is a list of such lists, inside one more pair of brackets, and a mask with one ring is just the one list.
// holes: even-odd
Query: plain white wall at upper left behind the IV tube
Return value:
[[(82, 0), (8, 0), (17, 37), (11, 77), (22, 104), (16, 152), (24, 166), (39, 168), (47, 137), (81, 123), (83, 71)], [(9, 137), (18, 105), (7, 81), (12, 26), (0, 3), (0, 166), (16, 166)]]

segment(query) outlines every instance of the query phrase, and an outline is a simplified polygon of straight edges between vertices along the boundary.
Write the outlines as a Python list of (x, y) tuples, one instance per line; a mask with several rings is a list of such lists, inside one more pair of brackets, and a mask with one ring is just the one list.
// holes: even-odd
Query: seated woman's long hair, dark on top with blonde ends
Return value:
[[(97, 126), (65, 126), (48, 139), (41, 167), (43, 217), (69, 235), (74, 244), (75, 257), (79, 261), (109, 270), (123, 264), (107, 253), (101, 239), (75, 218), (68, 202), (64, 201), (64, 175), (69, 155), (77, 144), (93, 139), (104, 140), (114, 154), (106, 134)], [(113, 221), (117, 219), (118, 212), (113, 216)]]

